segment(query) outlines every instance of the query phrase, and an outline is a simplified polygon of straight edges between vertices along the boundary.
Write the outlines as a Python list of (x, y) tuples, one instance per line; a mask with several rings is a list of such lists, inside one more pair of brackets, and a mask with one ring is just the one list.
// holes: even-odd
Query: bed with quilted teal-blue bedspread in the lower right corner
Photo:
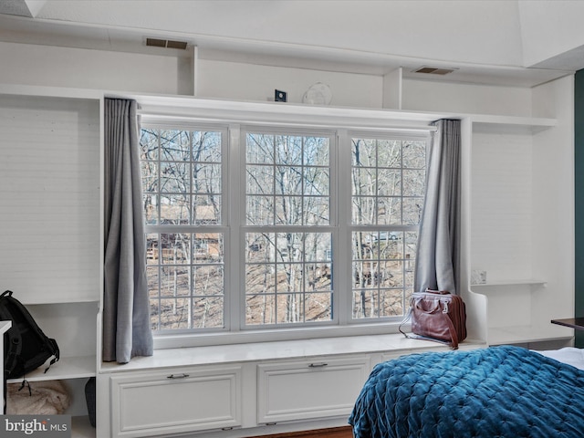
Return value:
[(355, 438), (584, 437), (584, 354), (513, 346), (378, 364), (349, 417)]

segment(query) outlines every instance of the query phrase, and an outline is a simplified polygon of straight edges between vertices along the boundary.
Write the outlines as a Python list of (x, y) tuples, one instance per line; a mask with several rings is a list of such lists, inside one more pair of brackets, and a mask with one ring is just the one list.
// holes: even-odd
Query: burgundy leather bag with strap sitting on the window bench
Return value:
[[(412, 320), (412, 334), (401, 326)], [(426, 290), (414, 292), (410, 299), (410, 311), (400, 324), (406, 338), (426, 339), (450, 345), (458, 349), (466, 339), (466, 308), (463, 298), (447, 291)]]

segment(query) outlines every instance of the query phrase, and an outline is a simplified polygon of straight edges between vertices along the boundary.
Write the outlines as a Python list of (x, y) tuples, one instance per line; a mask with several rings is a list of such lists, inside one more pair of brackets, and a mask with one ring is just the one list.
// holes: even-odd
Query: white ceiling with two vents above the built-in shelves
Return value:
[[(579, 45), (524, 66), (520, 12), (526, 5), (517, 5), (508, 0), (4, 0), (0, 41), (172, 57), (193, 56), (196, 46), (201, 59), (374, 75), (402, 68), (405, 78), (427, 79), (414, 72), (424, 66), (452, 68), (432, 78), (523, 87), (584, 67)], [(437, 16), (449, 7), (466, 16)], [(381, 13), (385, 17), (376, 21)], [(449, 20), (456, 21), (443, 28)], [(147, 37), (185, 41), (189, 48), (147, 47)]]

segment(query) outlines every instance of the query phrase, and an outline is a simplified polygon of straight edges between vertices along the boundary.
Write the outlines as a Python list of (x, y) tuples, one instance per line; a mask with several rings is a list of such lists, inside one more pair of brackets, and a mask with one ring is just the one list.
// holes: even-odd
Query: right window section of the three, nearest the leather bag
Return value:
[(413, 291), (426, 142), (351, 144), (353, 318), (401, 317)]

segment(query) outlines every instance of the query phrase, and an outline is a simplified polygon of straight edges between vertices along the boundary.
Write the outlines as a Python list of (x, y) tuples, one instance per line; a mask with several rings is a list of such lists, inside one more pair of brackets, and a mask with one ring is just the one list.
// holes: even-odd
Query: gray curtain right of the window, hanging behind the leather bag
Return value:
[(430, 145), (414, 292), (456, 294), (460, 266), (460, 120), (438, 120)]

